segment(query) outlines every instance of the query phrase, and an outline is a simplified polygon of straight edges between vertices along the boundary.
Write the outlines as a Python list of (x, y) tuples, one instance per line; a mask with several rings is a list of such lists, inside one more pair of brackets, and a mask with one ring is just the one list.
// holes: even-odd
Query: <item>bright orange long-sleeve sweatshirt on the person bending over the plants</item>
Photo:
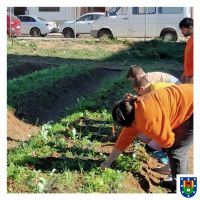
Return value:
[(150, 92), (135, 102), (135, 120), (124, 127), (115, 147), (125, 150), (140, 133), (154, 139), (164, 148), (173, 145), (173, 129), (193, 113), (193, 86), (180, 84)]

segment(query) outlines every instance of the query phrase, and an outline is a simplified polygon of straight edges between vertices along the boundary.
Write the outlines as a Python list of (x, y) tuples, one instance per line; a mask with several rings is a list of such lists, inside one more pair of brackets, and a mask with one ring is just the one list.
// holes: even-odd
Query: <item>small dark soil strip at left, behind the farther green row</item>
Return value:
[(13, 79), (19, 76), (24, 76), (27, 74), (31, 74), (35, 71), (39, 71), (39, 70), (51, 68), (51, 67), (55, 67), (55, 64), (26, 62), (20, 65), (15, 65), (11, 68), (8, 68), (7, 77), (8, 79)]

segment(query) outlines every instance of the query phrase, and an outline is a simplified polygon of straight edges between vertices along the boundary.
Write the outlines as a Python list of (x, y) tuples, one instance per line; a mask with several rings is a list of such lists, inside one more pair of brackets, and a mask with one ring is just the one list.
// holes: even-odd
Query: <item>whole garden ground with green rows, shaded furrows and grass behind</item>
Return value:
[[(121, 129), (112, 121), (113, 104), (132, 92), (128, 67), (177, 75), (183, 48), (184, 43), (126, 40), (8, 43), (9, 112), (39, 129), (8, 150), (8, 192), (169, 192), (158, 184), (165, 176), (152, 170), (161, 164), (138, 141), (111, 169), (99, 166)], [(23, 70), (30, 63), (35, 67)]]

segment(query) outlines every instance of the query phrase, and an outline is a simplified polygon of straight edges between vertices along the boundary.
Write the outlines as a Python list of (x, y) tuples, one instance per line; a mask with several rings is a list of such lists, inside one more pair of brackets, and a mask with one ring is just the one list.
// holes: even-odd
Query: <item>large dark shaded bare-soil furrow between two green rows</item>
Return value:
[(17, 105), (12, 106), (16, 109), (16, 115), (29, 123), (56, 121), (68, 114), (67, 109), (76, 104), (78, 98), (91, 95), (103, 79), (119, 73), (119, 70), (95, 68), (88, 74), (65, 78), (54, 85), (20, 96)]

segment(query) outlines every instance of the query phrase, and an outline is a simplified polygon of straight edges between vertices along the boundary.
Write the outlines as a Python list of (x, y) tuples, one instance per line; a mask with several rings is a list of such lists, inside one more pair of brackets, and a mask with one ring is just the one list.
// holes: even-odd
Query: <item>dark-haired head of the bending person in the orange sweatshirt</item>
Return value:
[(129, 127), (135, 119), (135, 99), (122, 99), (117, 102), (112, 111), (113, 120), (121, 126)]

